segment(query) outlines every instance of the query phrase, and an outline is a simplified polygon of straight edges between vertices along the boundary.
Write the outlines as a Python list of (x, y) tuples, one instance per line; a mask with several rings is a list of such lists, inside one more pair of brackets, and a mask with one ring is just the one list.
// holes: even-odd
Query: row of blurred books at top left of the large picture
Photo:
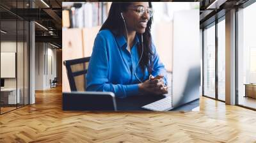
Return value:
[(100, 26), (108, 17), (111, 3), (68, 2), (63, 3), (63, 28), (83, 28)]

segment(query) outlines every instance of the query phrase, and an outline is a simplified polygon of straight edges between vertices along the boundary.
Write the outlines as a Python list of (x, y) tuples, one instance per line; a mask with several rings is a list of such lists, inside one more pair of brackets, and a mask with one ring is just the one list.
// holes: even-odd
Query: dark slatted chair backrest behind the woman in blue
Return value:
[(71, 91), (86, 91), (86, 73), (90, 57), (64, 61)]

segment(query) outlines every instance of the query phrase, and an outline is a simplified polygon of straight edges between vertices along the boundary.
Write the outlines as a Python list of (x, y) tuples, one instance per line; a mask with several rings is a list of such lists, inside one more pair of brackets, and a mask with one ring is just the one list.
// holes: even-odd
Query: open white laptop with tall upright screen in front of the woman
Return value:
[[(188, 19), (193, 17), (193, 19)], [(172, 87), (168, 96), (143, 106), (148, 110), (172, 110), (199, 98), (200, 32), (196, 10), (173, 13)], [(189, 31), (184, 34), (184, 31)]]

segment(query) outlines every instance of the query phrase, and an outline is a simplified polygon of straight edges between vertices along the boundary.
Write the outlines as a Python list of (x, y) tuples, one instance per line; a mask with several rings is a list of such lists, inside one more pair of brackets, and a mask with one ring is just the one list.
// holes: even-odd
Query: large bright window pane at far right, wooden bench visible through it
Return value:
[(256, 3), (238, 11), (238, 104), (256, 109)]

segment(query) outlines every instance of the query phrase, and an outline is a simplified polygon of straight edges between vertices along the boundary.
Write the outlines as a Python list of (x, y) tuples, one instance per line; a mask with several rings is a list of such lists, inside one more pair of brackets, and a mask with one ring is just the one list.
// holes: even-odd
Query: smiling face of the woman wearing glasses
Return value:
[[(145, 33), (147, 22), (150, 15), (147, 13), (149, 6), (148, 2), (134, 2), (123, 13), (127, 31), (136, 31), (137, 33)], [(140, 11), (146, 10), (144, 13)]]

